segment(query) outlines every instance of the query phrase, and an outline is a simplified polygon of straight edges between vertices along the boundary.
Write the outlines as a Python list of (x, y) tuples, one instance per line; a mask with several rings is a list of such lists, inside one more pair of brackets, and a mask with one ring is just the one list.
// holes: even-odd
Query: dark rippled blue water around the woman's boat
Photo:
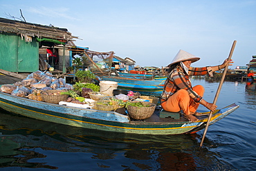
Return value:
[[(192, 79), (213, 101), (219, 83)], [(255, 85), (223, 83), (219, 108), (240, 107), (203, 130), (127, 135), (37, 121), (0, 110), (0, 170), (255, 170)], [(205, 110), (203, 107), (199, 109)]]

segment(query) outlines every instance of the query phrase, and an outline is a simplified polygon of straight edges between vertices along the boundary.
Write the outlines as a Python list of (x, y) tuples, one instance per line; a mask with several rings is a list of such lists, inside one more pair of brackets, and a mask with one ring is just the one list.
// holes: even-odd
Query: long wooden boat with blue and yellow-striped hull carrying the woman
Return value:
[[(21, 114), (33, 119), (62, 123), (80, 128), (122, 132), (131, 134), (184, 134), (194, 133), (205, 128), (207, 116), (199, 117), (199, 121), (190, 122), (183, 117), (167, 117), (156, 110), (149, 119), (134, 120), (125, 114), (113, 111), (93, 110), (82, 107), (58, 105), (42, 101), (34, 101), (23, 97), (0, 92), (0, 108), (15, 114)], [(231, 104), (212, 114), (210, 125), (239, 108)], [(201, 112), (201, 111), (199, 111)]]

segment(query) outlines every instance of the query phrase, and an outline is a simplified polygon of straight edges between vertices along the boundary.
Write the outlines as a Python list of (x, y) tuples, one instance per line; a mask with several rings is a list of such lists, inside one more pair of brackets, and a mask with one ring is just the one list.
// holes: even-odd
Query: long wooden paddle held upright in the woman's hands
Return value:
[[(235, 44), (236, 44), (236, 43), (237, 43), (237, 41), (234, 41), (233, 44), (232, 44), (232, 48), (231, 48), (231, 50), (230, 50), (230, 54), (229, 54), (229, 56), (228, 56), (228, 60), (230, 60), (231, 57), (232, 57), (232, 54), (233, 54), (233, 51), (234, 51), (234, 49), (235, 49)], [(216, 92), (215, 97), (214, 97), (214, 101), (213, 101), (214, 104), (216, 104), (217, 99), (218, 99), (218, 97), (219, 97), (219, 92), (221, 91), (221, 87), (222, 87), (223, 81), (224, 81), (224, 79), (225, 79), (225, 77), (226, 77), (226, 72), (227, 72), (227, 70), (228, 70), (228, 65), (226, 66), (226, 68), (225, 68), (224, 71), (223, 71), (223, 75), (222, 75), (222, 78), (221, 78), (221, 82), (219, 83), (219, 88), (217, 89), (217, 92)], [(203, 132), (203, 137), (202, 137), (202, 139), (201, 139), (200, 147), (203, 145), (203, 140), (205, 139), (205, 134), (206, 134), (206, 132), (207, 132), (207, 130), (208, 130), (208, 126), (209, 126), (211, 117), (212, 117), (212, 111), (210, 111), (210, 114), (209, 114), (209, 117), (208, 117), (208, 121), (207, 121), (207, 123), (206, 123), (205, 130), (204, 130), (204, 132)]]

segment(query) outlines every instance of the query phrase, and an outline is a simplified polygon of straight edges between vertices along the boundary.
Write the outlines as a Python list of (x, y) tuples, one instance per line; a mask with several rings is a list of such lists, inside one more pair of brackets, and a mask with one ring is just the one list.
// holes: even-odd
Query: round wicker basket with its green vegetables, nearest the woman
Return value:
[(129, 117), (133, 119), (147, 119), (152, 116), (156, 104), (145, 101), (128, 101), (126, 104)]

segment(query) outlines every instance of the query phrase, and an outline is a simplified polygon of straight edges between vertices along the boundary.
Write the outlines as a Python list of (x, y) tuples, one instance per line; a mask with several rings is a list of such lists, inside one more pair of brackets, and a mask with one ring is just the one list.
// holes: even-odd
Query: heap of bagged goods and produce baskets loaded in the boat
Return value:
[(110, 96), (100, 92), (100, 86), (94, 83), (78, 82), (71, 85), (65, 79), (42, 71), (33, 72), (26, 79), (12, 85), (2, 85), (1, 92), (58, 105), (115, 111), (133, 119), (147, 119), (156, 107), (156, 103), (145, 96), (140, 97), (138, 92), (118, 93), (116, 90), (115, 95)]

